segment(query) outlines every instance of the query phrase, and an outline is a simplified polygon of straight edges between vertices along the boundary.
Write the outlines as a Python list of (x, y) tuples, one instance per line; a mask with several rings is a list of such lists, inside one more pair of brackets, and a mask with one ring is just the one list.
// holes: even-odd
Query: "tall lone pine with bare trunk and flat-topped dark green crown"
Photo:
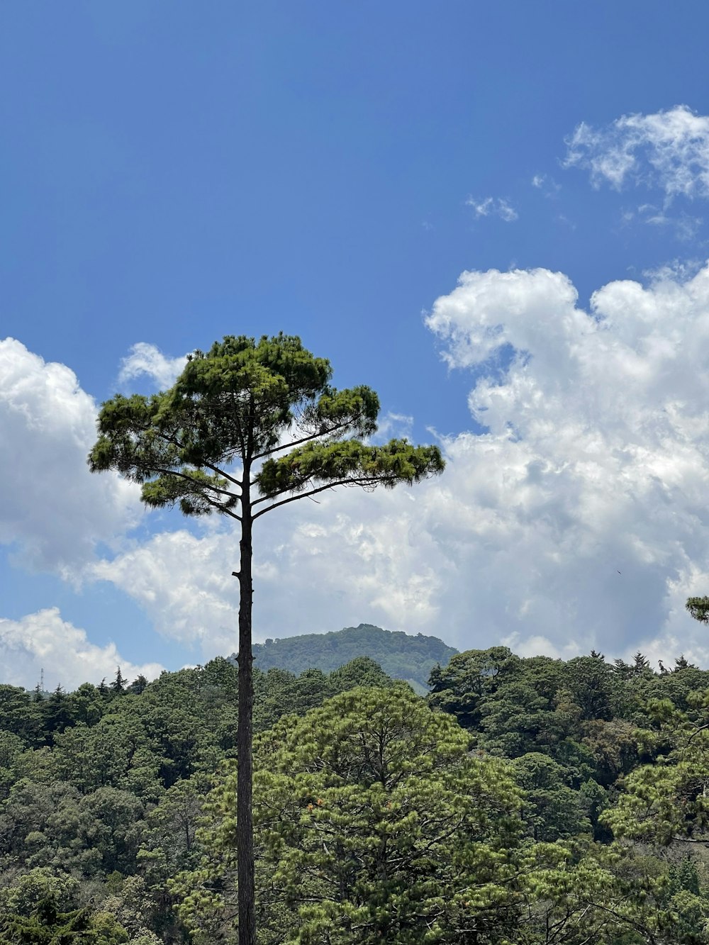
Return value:
[(336, 486), (409, 485), (442, 472), (441, 452), (376, 430), (369, 387), (337, 390), (329, 361), (300, 338), (228, 335), (190, 355), (169, 390), (116, 395), (98, 416), (92, 472), (115, 470), (142, 484), (151, 507), (185, 515), (217, 512), (240, 529), (238, 655), (239, 941), (253, 945), (252, 595), (253, 525), (267, 512)]

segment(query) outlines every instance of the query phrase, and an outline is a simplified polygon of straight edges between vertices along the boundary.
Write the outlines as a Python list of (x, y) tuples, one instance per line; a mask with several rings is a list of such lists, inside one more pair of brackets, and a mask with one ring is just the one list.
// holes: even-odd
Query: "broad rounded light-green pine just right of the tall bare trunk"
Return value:
[[(506, 940), (520, 792), (449, 716), (401, 685), (360, 688), (284, 718), (256, 751), (264, 942), (462, 941), (462, 914), (480, 943)], [(202, 867), (175, 885), (205, 935), (233, 901), (234, 777), (212, 795)]]

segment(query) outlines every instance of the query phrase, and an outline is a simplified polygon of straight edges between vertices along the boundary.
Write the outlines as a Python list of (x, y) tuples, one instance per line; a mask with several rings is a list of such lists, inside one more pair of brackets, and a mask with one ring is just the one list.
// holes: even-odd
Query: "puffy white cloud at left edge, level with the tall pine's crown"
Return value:
[(0, 340), (0, 542), (34, 568), (76, 574), (141, 514), (137, 487), (88, 470), (95, 417), (71, 369)]

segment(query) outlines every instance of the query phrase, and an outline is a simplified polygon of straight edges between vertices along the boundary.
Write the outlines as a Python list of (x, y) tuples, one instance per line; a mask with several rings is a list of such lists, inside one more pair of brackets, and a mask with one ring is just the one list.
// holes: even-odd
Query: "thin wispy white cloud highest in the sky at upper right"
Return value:
[(709, 116), (686, 105), (622, 115), (605, 128), (581, 122), (566, 142), (564, 167), (581, 167), (595, 187), (643, 185), (666, 201), (709, 198)]

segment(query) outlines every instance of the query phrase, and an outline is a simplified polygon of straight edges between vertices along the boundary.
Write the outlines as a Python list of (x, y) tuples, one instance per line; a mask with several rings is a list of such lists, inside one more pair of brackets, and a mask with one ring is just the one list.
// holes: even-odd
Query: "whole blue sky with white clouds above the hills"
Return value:
[(256, 639), (366, 621), (709, 664), (683, 613), (709, 590), (707, 21), (647, 0), (4, 5), (5, 679), (233, 650), (228, 526), (144, 513), (84, 456), (115, 390), (280, 330), (449, 468), (269, 523)]

